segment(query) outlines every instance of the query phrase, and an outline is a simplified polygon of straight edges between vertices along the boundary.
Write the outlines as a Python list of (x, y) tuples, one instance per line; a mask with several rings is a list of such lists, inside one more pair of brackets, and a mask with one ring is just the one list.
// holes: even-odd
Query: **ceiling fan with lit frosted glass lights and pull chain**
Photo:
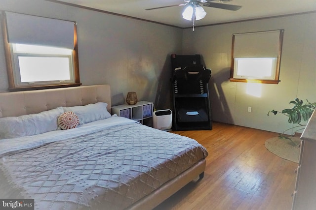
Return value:
[[(206, 12), (204, 11), (202, 6), (207, 7), (214, 7), (219, 9), (227, 9), (236, 11), (241, 8), (241, 6), (238, 5), (232, 5), (232, 4), (226, 4), (226, 2), (232, 1), (232, 0), (183, 0), (185, 3), (182, 4), (175, 4), (175, 5), (168, 5), (168, 6), (160, 6), (155, 8), (150, 8), (146, 10), (153, 10), (153, 9), (162, 9), (166, 7), (172, 7), (172, 6), (185, 6), (185, 9), (183, 10), (182, 17), (186, 20), (193, 20), (193, 31), (195, 26), (195, 21), (200, 20), (205, 17)], [(212, 1), (219, 1), (220, 3), (215, 3)]]

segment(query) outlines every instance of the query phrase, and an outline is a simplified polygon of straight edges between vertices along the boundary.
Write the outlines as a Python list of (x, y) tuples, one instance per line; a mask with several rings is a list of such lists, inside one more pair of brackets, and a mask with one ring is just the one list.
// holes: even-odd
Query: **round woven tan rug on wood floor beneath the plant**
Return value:
[(291, 137), (291, 139), (293, 142), (296, 143), (296, 145), (294, 145), (293, 142), (288, 139), (280, 139), (278, 137), (274, 137), (268, 139), (265, 142), (265, 146), (267, 150), (271, 151), (277, 156), (298, 163), (300, 156), (299, 144), (301, 140), (299, 137)]

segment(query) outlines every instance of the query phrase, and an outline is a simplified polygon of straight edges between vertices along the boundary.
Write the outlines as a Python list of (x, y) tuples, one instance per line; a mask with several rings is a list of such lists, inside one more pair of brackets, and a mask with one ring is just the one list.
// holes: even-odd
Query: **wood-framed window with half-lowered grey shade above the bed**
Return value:
[(74, 22), (11, 12), (5, 17), (10, 91), (80, 85)]

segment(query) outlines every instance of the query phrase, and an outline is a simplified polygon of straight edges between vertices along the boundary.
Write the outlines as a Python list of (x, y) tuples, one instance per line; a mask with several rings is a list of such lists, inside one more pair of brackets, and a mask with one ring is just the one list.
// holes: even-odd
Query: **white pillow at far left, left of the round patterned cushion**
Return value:
[(57, 130), (57, 119), (63, 113), (63, 108), (57, 107), (38, 114), (0, 118), (0, 139), (33, 136)]

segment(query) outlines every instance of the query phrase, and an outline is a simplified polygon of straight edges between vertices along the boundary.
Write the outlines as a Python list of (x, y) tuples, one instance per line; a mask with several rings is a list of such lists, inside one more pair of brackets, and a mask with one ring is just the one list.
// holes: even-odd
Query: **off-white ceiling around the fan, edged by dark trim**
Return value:
[[(148, 21), (190, 28), (191, 21), (182, 18), (184, 6), (145, 10), (185, 3), (183, 0), (50, 0), (53, 2), (87, 7)], [(213, 0), (213, 2), (218, 2)], [(196, 21), (196, 26), (227, 23), (256, 18), (316, 11), (316, 0), (232, 0), (227, 4), (241, 5), (237, 11), (204, 7), (207, 15)]]

